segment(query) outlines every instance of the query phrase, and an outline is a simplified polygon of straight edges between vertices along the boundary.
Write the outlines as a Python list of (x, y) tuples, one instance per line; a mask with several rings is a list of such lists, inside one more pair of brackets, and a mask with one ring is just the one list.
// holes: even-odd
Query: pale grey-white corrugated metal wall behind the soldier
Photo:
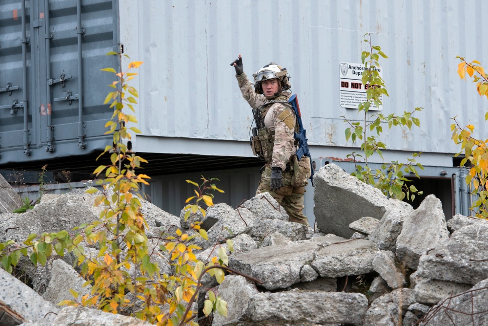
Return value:
[[(339, 65), (361, 63), (363, 35), (371, 33), (389, 56), (381, 61), (390, 94), (383, 113), (425, 108), (417, 115), (420, 130), (385, 128), (384, 141), (391, 150), (432, 153), (424, 163), (452, 165), (449, 153), (458, 148), (449, 119), (459, 116), (483, 130), (486, 99), (459, 79), (455, 57), (483, 60), (487, 44), (478, 28), (487, 6), (481, 0), (123, 0), (122, 43), (145, 62), (139, 79), (145, 136), (137, 144), (156, 152), (205, 147), (242, 155), (238, 144), (247, 141), (252, 116), (229, 66), (242, 53), (248, 76), (270, 61), (288, 68), (307, 136), (318, 145), (312, 154), (345, 158), (351, 143), (341, 116), (360, 117), (340, 106)], [(214, 146), (215, 139), (234, 142)]]

